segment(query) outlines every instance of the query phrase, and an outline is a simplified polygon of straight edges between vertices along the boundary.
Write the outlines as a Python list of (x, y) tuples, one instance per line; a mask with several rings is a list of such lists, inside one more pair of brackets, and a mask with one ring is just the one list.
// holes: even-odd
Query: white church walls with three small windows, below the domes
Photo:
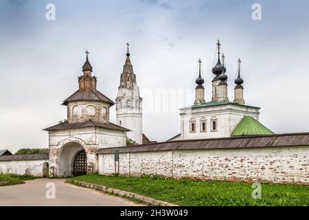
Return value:
[[(181, 139), (205, 139), (216, 137), (231, 137), (231, 132), (242, 120), (244, 115), (250, 115), (259, 120), (259, 109), (235, 106), (232, 104), (196, 109), (181, 109)], [(190, 131), (190, 121), (196, 121), (196, 131)], [(206, 121), (206, 131), (201, 131), (201, 120)], [(216, 121), (216, 131), (211, 129), (211, 122)]]

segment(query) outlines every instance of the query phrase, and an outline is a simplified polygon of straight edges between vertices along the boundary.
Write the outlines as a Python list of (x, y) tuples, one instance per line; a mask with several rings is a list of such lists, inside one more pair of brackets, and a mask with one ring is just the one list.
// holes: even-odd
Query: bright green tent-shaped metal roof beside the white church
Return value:
[(252, 118), (249, 115), (244, 116), (242, 120), (238, 123), (236, 128), (231, 133), (231, 136), (242, 136), (242, 135), (273, 135), (273, 131), (269, 130)]

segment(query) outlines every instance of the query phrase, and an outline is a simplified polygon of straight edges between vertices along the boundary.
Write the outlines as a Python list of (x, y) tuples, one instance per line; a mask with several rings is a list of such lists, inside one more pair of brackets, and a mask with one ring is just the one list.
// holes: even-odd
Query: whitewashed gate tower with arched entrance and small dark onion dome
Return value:
[(67, 106), (67, 120), (45, 129), (49, 133), (51, 177), (96, 173), (100, 148), (126, 145), (129, 130), (109, 122), (114, 102), (96, 89), (88, 52), (82, 72), (78, 91), (62, 103)]

